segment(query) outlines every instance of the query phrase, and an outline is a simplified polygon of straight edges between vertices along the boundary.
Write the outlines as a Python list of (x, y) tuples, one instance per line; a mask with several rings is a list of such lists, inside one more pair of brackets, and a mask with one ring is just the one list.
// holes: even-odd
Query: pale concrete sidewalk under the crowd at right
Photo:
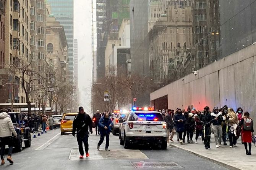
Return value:
[[(216, 148), (214, 135), (211, 135), (211, 149), (205, 149), (202, 139), (198, 138), (198, 143), (195, 142), (195, 135), (193, 136), (193, 143), (187, 143), (181, 145), (177, 142), (177, 135), (173, 137), (174, 142), (170, 142), (169, 145), (175, 148), (179, 148), (196, 156), (210, 160), (216, 164), (222, 165), (231, 170), (255, 170), (256, 166), (256, 148), (252, 143), (252, 155), (245, 154), (245, 147), (241, 143), (241, 137), (237, 141), (237, 147), (229, 148), (229, 141), (227, 146), (221, 145), (220, 148)], [(223, 144), (223, 142), (222, 142)]]

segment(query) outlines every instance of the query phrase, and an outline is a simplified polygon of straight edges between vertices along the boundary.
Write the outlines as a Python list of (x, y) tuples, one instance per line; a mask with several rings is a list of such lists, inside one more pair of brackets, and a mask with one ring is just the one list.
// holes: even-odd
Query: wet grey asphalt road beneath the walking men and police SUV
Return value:
[[(32, 138), (31, 148), (13, 153), (14, 164), (0, 165), (1, 170), (226, 170), (208, 160), (168, 146), (166, 150), (136, 146), (124, 149), (117, 136), (110, 135), (110, 152), (96, 149), (99, 135), (90, 135), (90, 157), (79, 159), (76, 138), (60, 135), (60, 129)], [(6, 150), (7, 151), (7, 150)], [(144, 166), (144, 167), (142, 167)]]

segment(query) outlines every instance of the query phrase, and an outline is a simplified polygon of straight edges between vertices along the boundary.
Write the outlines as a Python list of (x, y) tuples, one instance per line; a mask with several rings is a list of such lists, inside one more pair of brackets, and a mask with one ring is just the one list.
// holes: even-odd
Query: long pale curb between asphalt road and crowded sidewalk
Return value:
[(203, 158), (203, 159), (209, 160), (209, 161), (211, 161), (211, 162), (213, 162), (213, 163), (215, 163), (215, 164), (218, 164), (218, 165), (220, 165), (220, 166), (222, 166), (222, 167), (225, 167), (225, 168), (228, 168), (228, 169), (230, 169), (230, 170), (243, 170), (243, 169), (234, 167), (234, 165), (230, 165), (230, 164), (221, 162), (221, 161), (219, 161), (219, 160), (215, 160), (215, 159), (211, 159), (211, 158), (209, 158), (209, 157), (207, 157), (207, 156), (203, 156), (203, 155), (201, 155), (201, 154), (199, 154), (199, 153), (197, 153), (197, 152), (195, 152), (195, 151), (192, 151), (192, 150), (190, 150), (190, 149), (185, 149), (185, 148), (182, 148), (182, 147), (180, 147), (180, 146), (173, 145), (173, 144), (169, 144), (169, 146), (172, 146), (172, 147), (174, 147), (174, 148), (181, 149), (181, 150), (183, 150), (183, 151), (189, 152), (189, 153), (191, 153), (191, 154), (194, 154), (195, 156), (198, 156), (198, 157), (201, 157), (201, 158)]

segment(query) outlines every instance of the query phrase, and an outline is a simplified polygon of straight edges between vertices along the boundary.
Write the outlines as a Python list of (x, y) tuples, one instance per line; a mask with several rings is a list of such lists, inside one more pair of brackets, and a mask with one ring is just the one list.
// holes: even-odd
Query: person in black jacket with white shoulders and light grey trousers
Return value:
[(220, 146), (220, 141), (222, 138), (222, 127), (221, 127), (221, 123), (222, 123), (222, 113), (219, 112), (219, 108), (215, 107), (214, 112), (211, 113), (211, 117), (212, 117), (212, 125), (213, 125), (213, 131), (214, 131), (214, 139), (215, 139), (215, 145), (216, 148), (219, 148)]

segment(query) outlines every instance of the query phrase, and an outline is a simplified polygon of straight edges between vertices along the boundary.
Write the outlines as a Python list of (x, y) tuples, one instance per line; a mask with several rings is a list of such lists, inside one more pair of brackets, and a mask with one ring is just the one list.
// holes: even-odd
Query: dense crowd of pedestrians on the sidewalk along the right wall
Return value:
[(174, 142), (175, 133), (177, 133), (177, 141), (181, 144), (193, 143), (195, 134), (195, 143), (198, 143), (198, 139), (201, 138), (205, 149), (210, 149), (211, 134), (214, 133), (216, 148), (222, 144), (228, 145), (227, 139), (229, 147), (233, 148), (241, 135), (246, 155), (251, 155), (253, 120), (247, 111), (243, 112), (241, 107), (237, 109), (237, 112), (226, 105), (222, 108), (214, 107), (212, 111), (206, 106), (202, 113), (196, 108), (192, 110), (188, 108), (187, 111), (180, 108), (176, 111), (170, 109), (157, 111), (162, 113), (167, 122), (168, 143)]

